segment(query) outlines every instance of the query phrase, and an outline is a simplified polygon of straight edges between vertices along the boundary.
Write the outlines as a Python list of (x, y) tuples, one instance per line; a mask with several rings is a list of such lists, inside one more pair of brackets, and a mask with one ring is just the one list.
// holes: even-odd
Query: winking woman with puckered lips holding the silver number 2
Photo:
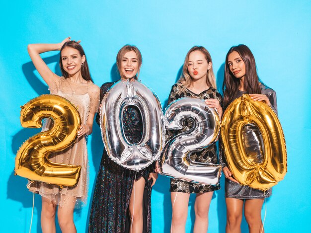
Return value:
[[(202, 46), (195, 46), (189, 50), (183, 65), (183, 73), (176, 84), (172, 86), (168, 97), (170, 104), (182, 97), (196, 96), (205, 99), (209, 107), (216, 108), (222, 115), (222, 96), (216, 89), (216, 81), (212, 68), (212, 59), (209, 52)], [(184, 121), (183, 129), (179, 132), (168, 132), (167, 138), (192, 128), (191, 121)], [(216, 145), (193, 153), (191, 160), (197, 162), (218, 163)], [(219, 185), (203, 185), (187, 182), (179, 179), (171, 179), (170, 192), (172, 202), (172, 233), (185, 232), (185, 224), (188, 213), (190, 193), (196, 194), (194, 233), (207, 232), (208, 212), (213, 191), (218, 190)]]

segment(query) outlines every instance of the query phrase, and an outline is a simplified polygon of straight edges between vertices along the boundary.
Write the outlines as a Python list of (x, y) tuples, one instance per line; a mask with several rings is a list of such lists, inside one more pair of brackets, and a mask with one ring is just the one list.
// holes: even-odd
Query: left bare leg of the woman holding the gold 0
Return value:
[(226, 198), (227, 225), (226, 233), (241, 233), (244, 200)]

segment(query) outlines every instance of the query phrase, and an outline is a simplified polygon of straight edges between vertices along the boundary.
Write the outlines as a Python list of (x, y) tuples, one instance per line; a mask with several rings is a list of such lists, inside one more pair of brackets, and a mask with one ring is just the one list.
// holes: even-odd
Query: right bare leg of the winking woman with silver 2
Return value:
[(213, 192), (198, 193), (195, 198), (194, 212), (195, 221), (193, 233), (204, 233), (208, 229), (208, 213)]

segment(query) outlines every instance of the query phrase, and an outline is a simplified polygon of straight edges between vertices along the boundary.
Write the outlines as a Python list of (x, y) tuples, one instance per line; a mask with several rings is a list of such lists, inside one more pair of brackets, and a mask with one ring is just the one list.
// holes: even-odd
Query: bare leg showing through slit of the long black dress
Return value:
[(146, 181), (144, 178), (134, 181), (129, 205), (130, 219), (132, 222), (131, 233), (143, 232), (143, 197), (145, 183)]

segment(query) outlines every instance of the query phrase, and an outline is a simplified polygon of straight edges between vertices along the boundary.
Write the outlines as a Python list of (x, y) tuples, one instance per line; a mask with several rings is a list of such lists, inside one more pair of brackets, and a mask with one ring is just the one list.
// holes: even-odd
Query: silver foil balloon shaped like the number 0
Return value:
[[(119, 165), (141, 170), (159, 156), (164, 143), (163, 113), (156, 95), (138, 80), (116, 82), (102, 100), (100, 126), (105, 149)], [(143, 137), (131, 144), (123, 132), (123, 111), (136, 106), (143, 120)]]

